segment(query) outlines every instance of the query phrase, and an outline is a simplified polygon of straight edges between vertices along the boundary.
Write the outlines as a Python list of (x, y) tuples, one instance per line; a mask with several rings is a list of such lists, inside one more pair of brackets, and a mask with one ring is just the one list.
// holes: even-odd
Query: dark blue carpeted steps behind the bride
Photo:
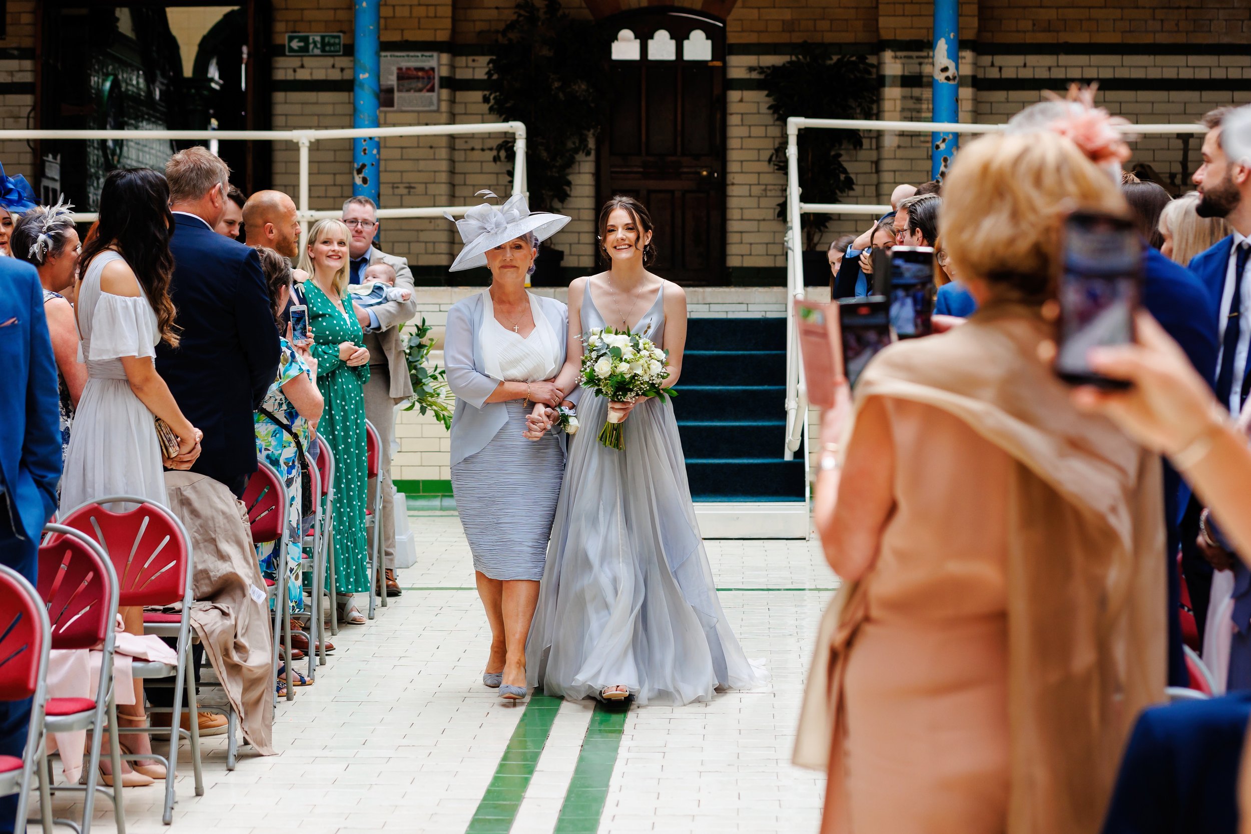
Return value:
[(689, 319), (673, 410), (696, 501), (802, 501), (783, 460), (786, 319)]

